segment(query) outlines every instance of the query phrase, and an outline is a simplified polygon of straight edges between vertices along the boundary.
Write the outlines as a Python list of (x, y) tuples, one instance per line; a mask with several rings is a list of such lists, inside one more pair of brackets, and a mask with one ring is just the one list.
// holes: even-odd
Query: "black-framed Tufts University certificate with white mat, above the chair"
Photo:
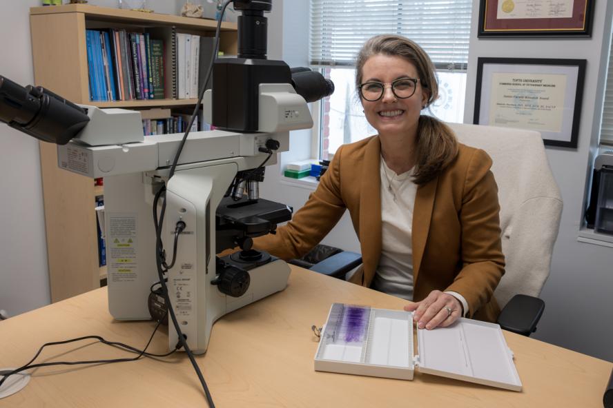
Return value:
[(537, 130), (577, 147), (585, 59), (479, 58), (473, 123)]

